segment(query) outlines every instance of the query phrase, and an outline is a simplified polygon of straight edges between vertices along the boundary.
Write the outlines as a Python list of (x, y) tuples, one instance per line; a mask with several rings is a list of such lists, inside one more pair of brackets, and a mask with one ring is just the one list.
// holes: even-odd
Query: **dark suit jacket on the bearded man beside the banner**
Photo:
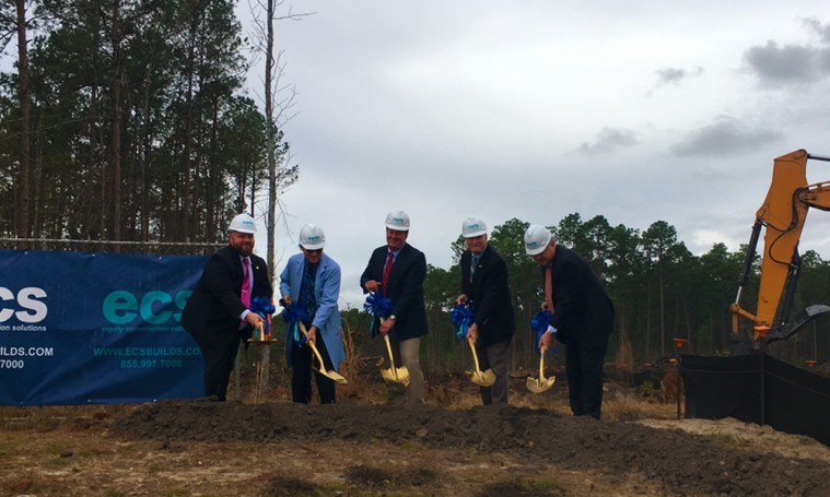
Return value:
[[(271, 298), (273, 289), (265, 260), (252, 253), (250, 269), (254, 274), (252, 298)], [(239, 330), (239, 315), (245, 310), (241, 297), (244, 277), (239, 252), (230, 245), (208, 259), (182, 312), (182, 327), (196, 339), (196, 343), (225, 347), (233, 346), (239, 335), (243, 339), (250, 336), (252, 327)]]

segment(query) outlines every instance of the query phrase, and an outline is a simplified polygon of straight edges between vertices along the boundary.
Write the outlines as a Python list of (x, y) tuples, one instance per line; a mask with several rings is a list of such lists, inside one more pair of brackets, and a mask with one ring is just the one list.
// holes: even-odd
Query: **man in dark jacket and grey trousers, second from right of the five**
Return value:
[(487, 242), (487, 225), (480, 218), (464, 220), (461, 235), (467, 250), (461, 253), (461, 295), (456, 304), (466, 301), (476, 309), (476, 321), (467, 330), (467, 336), (476, 344), (481, 370), (491, 368), (495, 374), (491, 387), (479, 387), (481, 402), (506, 404), (510, 345), (516, 331), (507, 264)]

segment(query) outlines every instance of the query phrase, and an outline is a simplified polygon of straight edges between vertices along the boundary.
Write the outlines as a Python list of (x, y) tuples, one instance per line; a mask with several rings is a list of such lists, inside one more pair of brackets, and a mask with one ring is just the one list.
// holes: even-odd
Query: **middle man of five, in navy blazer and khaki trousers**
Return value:
[(376, 248), (360, 276), (363, 292), (375, 292), (391, 299), (391, 315), (379, 326), (389, 333), (393, 355), (409, 369), (407, 403), (423, 403), (423, 372), (419, 362), (421, 336), (428, 332), (426, 307), (423, 303), (423, 280), (426, 258), (407, 244), (409, 215), (391, 211), (386, 216), (386, 245)]

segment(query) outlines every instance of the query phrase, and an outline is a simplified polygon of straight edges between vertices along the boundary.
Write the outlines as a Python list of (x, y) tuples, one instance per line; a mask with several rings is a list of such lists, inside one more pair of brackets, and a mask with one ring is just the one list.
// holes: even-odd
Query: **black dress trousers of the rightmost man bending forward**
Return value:
[(599, 419), (603, 409), (603, 367), (608, 343), (583, 348), (569, 343), (565, 351), (568, 393), (574, 416), (588, 415)]

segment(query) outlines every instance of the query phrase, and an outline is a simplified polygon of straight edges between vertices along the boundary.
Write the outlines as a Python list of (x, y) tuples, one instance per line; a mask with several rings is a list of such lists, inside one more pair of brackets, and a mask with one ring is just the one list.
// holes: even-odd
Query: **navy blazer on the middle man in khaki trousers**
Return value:
[[(366, 293), (370, 280), (383, 281), (388, 247), (377, 247), (369, 259), (369, 264), (360, 276), (360, 287)], [(426, 258), (423, 252), (409, 244), (404, 244), (389, 273), (385, 296), (393, 303), (395, 327), (391, 329), (398, 340), (414, 339), (428, 333), (426, 307), (423, 303), (423, 280), (426, 277)]]

